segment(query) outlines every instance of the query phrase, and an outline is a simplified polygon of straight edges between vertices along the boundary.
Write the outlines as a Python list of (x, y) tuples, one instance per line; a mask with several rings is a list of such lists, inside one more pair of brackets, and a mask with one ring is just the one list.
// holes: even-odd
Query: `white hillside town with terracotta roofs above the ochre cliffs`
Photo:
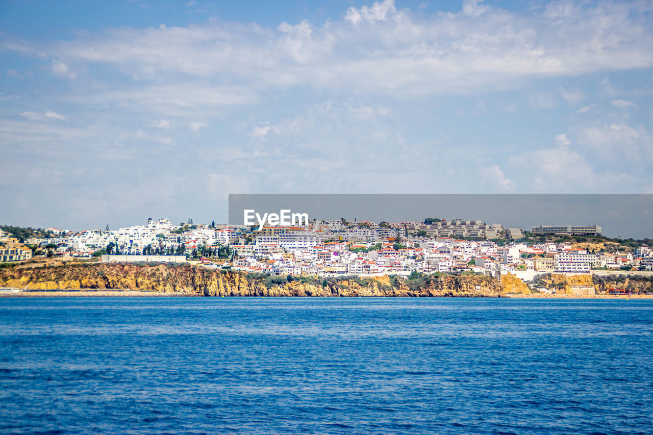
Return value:
[(539, 225), (522, 231), (480, 220), (430, 217), (421, 222), (374, 223), (342, 218), (259, 229), (150, 218), (144, 225), (114, 231), (107, 225), (77, 232), (49, 228), (39, 234), (20, 240), (0, 232), (0, 261), (42, 256), (111, 263), (189, 262), (270, 276), (473, 272), (498, 279), (511, 274), (524, 282), (547, 272), (578, 275), (653, 268), (653, 248), (609, 243), (596, 225)]

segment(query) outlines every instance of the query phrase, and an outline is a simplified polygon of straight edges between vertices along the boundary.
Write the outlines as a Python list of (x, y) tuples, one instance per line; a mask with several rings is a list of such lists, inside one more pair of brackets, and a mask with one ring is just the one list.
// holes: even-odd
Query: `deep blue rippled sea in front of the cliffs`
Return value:
[(0, 298), (0, 432), (650, 434), (653, 301)]

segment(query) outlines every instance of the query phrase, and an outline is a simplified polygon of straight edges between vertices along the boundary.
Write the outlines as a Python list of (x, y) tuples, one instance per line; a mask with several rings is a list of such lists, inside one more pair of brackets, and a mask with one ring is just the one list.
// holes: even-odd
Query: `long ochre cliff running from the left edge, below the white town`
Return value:
[(479, 275), (428, 278), (415, 283), (381, 280), (294, 278), (292, 281), (221, 272), (195, 266), (128, 263), (63, 265), (0, 269), (0, 287), (27, 289), (130, 289), (204, 296), (317, 297), (500, 297), (494, 278)]

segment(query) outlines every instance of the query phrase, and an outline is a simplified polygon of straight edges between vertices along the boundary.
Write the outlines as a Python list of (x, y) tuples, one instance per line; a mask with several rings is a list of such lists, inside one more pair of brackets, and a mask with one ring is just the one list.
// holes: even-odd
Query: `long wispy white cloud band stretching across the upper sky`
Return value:
[[(217, 83), (253, 92), (310, 86), (402, 98), (653, 66), (653, 26), (637, 3), (556, 5), (545, 14), (513, 13), (472, 0), (460, 13), (424, 16), (385, 0), (351, 7), (344, 20), (321, 26), (304, 20), (275, 29), (212, 19), (188, 27), (80, 33), (46, 48), (3, 46), (45, 51), (53, 72), (69, 78), (71, 65), (99, 63), (163, 84), (188, 86), (199, 77), (206, 90)], [(483, 20), (475, 18), (481, 13)], [(567, 101), (579, 99), (565, 92)], [(537, 105), (550, 106), (550, 99)]]

